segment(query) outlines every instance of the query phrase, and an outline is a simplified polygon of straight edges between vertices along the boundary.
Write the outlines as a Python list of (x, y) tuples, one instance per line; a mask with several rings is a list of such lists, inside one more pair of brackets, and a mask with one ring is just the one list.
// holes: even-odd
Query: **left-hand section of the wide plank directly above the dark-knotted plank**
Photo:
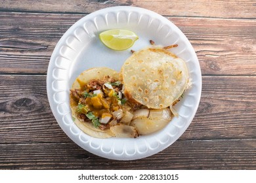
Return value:
[(83, 15), (0, 14), (0, 72), (47, 73), (62, 35)]

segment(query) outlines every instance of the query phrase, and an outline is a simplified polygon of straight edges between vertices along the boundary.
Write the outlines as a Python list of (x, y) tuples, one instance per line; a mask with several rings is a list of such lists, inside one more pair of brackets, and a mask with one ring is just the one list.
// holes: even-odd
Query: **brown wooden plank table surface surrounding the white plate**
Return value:
[[(188, 37), (202, 69), (202, 99), (186, 132), (134, 161), (100, 158), (60, 129), (49, 107), (54, 46), (105, 7), (147, 8)], [(0, 169), (256, 169), (256, 1), (0, 0)]]

